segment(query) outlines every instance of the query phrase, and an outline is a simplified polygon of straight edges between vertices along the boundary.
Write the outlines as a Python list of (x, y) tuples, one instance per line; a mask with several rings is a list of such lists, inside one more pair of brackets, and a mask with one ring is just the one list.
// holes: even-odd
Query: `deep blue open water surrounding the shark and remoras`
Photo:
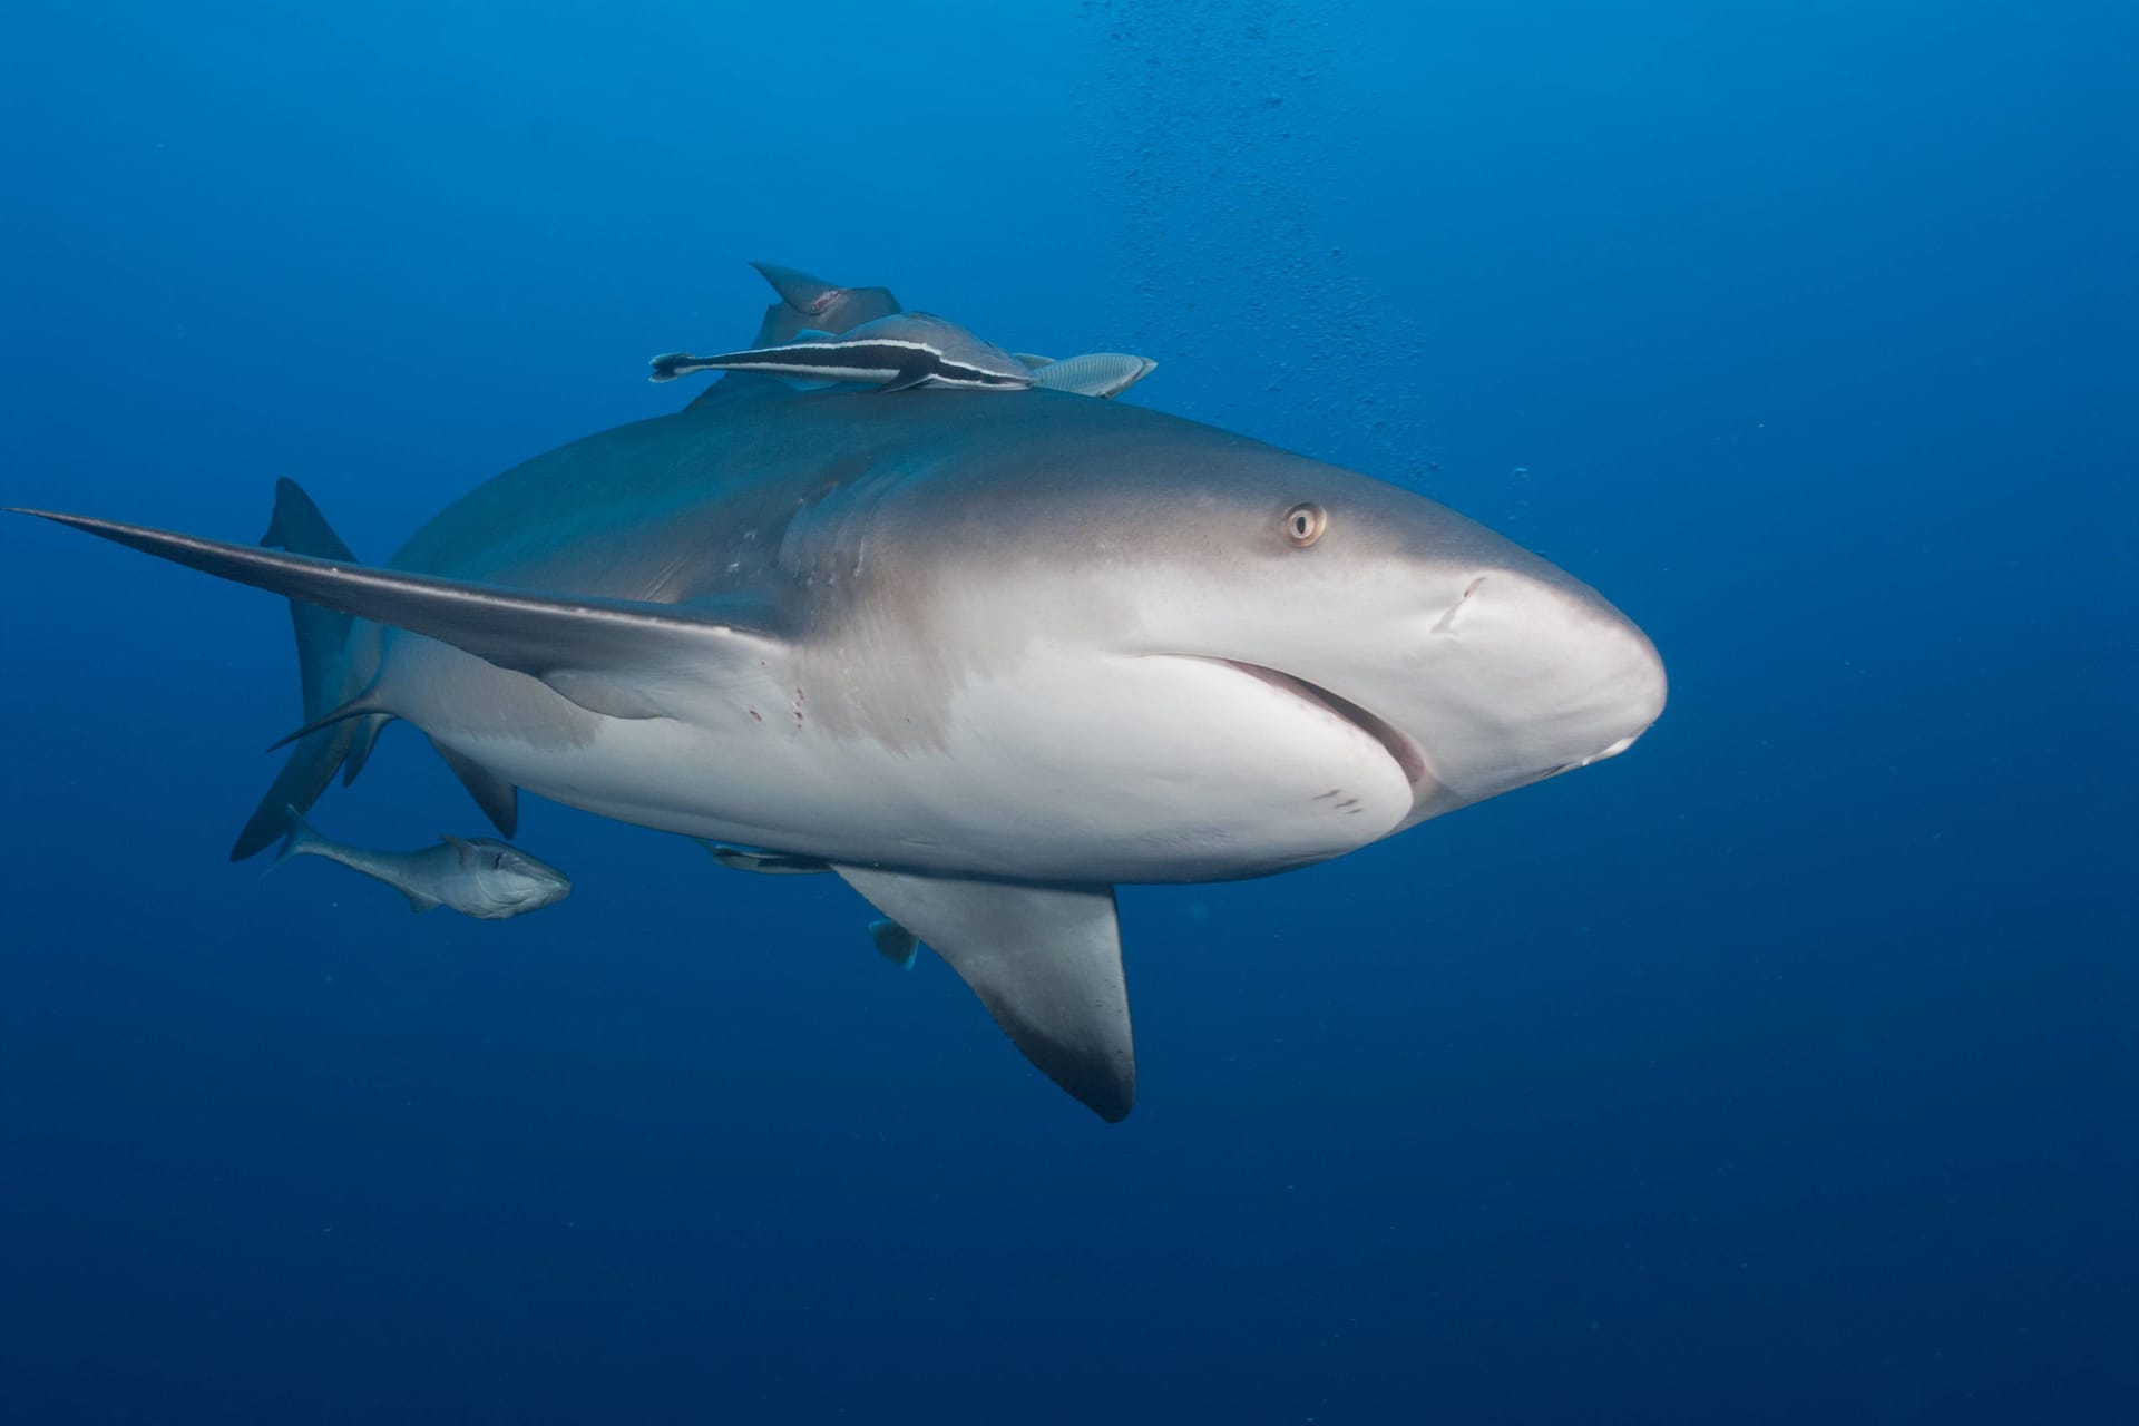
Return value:
[[(0, 500), (383, 556), (772, 259), (1410, 483), (1626, 757), (1127, 889), (1106, 1127), (832, 879), (225, 849), (280, 601), (0, 524), (0, 1420), (2139, 1420), (2128, 6), (17, 6)], [(1010, 400), (1010, 398), (1005, 398)], [(481, 830), (409, 729), (319, 821)]]

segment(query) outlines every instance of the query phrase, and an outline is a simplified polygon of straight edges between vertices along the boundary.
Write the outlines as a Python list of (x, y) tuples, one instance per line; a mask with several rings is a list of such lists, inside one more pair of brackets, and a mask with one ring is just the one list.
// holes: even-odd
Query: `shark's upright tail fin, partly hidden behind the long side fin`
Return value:
[[(274, 520), (267, 522), (261, 545), (351, 564), (357, 558), (327, 526), (312, 498), (297, 487), (297, 481), (289, 479), (276, 481)], [(295, 599), (289, 601), (289, 620), (297, 631), (304, 718), (312, 723), (364, 691), (379, 663), (376, 637), (372, 637), (372, 626), (361, 620)], [(289, 761), (282, 763), (282, 772), (276, 774), (274, 785), (252, 810), (252, 819), (237, 834), (231, 862), (259, 855), (282, 836), (287, 825), (304, 825), (302, 821), (291, 823), (291, 819), (319, 802), (344, 761), (353, 770), (364, 765), (383, 723), (385, 714), (368, 714), (347, 723), (329, 723), (299, 738)], [(353, 770), (349, 776), (355, 776)], [(287, 840), (282, 855), (287, 855)]]

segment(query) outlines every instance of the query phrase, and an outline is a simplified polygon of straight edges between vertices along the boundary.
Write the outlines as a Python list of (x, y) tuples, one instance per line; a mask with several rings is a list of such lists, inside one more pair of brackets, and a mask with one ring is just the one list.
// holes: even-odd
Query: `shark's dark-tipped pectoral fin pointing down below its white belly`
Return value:
[(1044, 1075), (1108, 1122), (1127, 1116), (1136, 1045), (1112, 887), (832, 870), (948, 960)]

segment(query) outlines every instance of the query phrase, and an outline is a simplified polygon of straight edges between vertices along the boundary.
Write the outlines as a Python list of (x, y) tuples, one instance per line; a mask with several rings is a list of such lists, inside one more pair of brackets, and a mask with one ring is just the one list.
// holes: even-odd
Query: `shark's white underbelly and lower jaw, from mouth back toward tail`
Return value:
[[(404, 718), (518, 787), (633, 825), (832, 862), (1044, 881), (1215, 881), (1386, 836), (1403, 770), (1326, 708), (1191, 658), (1029, 661), (894, 746), (804, 699), (607, 718), (428, 639)], [(785, 693), (785, 691), (783, 691)]]

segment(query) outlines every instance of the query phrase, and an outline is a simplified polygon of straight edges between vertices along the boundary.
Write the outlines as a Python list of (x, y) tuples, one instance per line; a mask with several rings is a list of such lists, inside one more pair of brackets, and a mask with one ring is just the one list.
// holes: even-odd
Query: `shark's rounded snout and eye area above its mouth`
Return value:
[(1656, 646), (1566, 571), (1350, 470), (1243, 466), (1198, 483), (1209, 554), (1179, 571), (1209, 594), (1183, 635), (1380, 740), (1414, 789), (1401, 825), (1615, 757), (1662, 714)]

